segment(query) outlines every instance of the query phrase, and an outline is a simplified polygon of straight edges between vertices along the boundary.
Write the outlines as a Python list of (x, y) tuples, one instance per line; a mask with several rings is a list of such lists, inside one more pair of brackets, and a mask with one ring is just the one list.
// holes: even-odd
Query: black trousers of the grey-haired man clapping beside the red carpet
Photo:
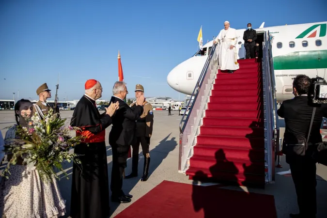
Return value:
[(127, 166), (129, 146), (114, 144), (112, 148), (112, 170), (110, 189), (113, 197), (122, 195), (123, 172)]

